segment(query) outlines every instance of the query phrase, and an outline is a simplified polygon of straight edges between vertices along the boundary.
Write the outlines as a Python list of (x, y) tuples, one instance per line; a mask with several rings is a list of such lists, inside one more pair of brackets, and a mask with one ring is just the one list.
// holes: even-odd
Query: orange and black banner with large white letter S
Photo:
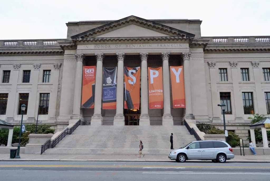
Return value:
[(140, 107), (140, 72), (141, 68), (124, 69), (124, 108), (139, 109)]

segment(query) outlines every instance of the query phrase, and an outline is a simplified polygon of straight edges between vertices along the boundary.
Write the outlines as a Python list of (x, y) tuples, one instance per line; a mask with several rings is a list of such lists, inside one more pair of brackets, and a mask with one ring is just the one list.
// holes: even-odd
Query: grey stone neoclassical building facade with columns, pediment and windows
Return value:
[[(217, 104), (224, 102), (227, 130), (246, 140), (248, 117), (269, 114), (270, 36), (201, 37), (201, 23), (129, 16), (66, 23), (66, 39), (0, 40), (0, 119), (20, 124), (19, 106), (26, 103), (25, 124), (35, 123), (44, 105), (39, 123), (58, 131), (79, 119), (130, 125), (123, 92), (117, 92), (116, 110), (101, 109), (102, 67), (117, 66), (117, 81), (123, 81), (123, 66), (140, 66), (140, 119), (132, 124), (173, 126), (186, 119), (222, 129)], [(83, 65), (96, 65), (94, 109), (81, 108)], [(169, 65), (184, 66), (185, 109), (172, 109)], [(148, 109), (147, 66), (163, 67), (162, 110)]]

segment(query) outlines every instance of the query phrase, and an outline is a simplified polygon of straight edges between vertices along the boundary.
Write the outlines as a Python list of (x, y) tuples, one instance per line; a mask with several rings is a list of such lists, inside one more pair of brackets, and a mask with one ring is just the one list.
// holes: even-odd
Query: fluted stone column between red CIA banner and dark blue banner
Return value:
[(95, 103), (94, 115), (91, 119), (91, 125), (102, 125), (101, 106), (102, 106), (102, 61), (104, 53), (96, 53), (97, 67), (96, 67), (96, 84), (95, 84)]

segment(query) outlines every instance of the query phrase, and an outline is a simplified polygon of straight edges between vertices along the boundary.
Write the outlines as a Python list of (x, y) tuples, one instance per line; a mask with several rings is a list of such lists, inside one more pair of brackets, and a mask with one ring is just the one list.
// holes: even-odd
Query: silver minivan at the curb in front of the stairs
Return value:
[(196, 159), (225, 163), (227, 159), (232, 158), (234, 158), (232, 147), (225, 141), (217, 140), (190, 142), (184, 147), (169, 153), (169, 159), (177, 162)]

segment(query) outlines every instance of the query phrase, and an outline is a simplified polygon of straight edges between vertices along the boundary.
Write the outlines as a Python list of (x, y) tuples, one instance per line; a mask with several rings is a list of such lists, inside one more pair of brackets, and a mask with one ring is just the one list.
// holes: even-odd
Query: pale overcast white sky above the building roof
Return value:
[(200, 19), (202, 36), (269, 36), (270, 0), (2, 0), (0, 39), (63, 39), (67, 22)]

